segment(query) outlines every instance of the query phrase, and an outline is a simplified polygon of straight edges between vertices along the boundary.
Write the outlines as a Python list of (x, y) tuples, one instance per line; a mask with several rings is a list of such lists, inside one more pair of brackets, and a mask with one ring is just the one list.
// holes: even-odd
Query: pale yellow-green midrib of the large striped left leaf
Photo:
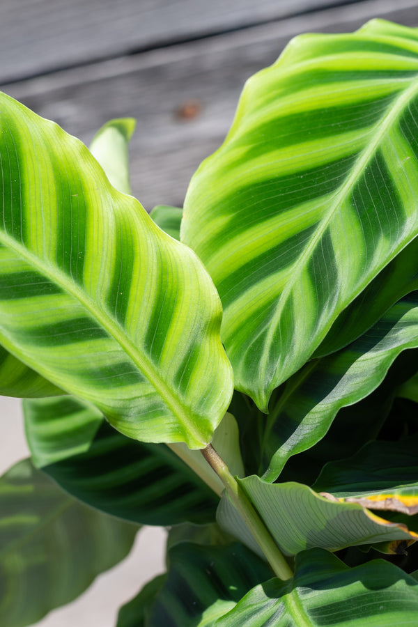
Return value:
[[(45, 277), (50, 279), (54, 284), (58, 284), (62, 287), (65, 293), (68, 293), (75, 300), (78, 300), (82, 306), (91, 314), (93, 319), (98, 320), (100, 325), (109, 332), (109, 335), (118, 343), (119, 346), (123, 349), (123, 351), (132, 359), (135, 366), (144, 374), (148, 382), (154, 387), (157, 394), (162, 398), (167, 407), (171, 410), (171, 412), (178, 417), (181, 424), (187, 429), (189, 435), (199, 442), (201, 442), (201, 435), (199, 432), (196, 432), (193, 424), (193, 420), (189, 418), (187, 412), (185, 412), (184, 408), (180, 403), (178, 403), (177, 397), (174, 396), (169, 389), (168, 385), (164, 380), (160, 377), (155, 366), (150, 362), (149, 359), (146, 359), (146, 356), (141, 358), (141, 355), (136, 350), (136, 347), (130, 341), (129, 337), (121, 332), (121, 328), (117, 323), (112, 320), (112, 318), (105, 312), (101, 306), (98, 306), (90, 296), (88, 296), (85, 292), (78, 288), (77, 284), (70, 281), (68, 277), (65, 276), (62, 272), (51, 267), (51, 270), (48, 268), (46, 263), (41, 263), (42, 260), (31, 253), (26, 247), (20, 245), (14, 238), (11, 238), (10, 235), (5, 233), (4, 231), (0, 231), (0, 241), (3, 242), (4, 245), (8, 246), (10, 249), (15, 251), (15, 253), (24, 259), (32, 268), (36, 268), (40, 274), (43, 274)], [(54, 270), (54, 271), (52, 271)], [(32, 366), (36, 367), (36, 366)]]

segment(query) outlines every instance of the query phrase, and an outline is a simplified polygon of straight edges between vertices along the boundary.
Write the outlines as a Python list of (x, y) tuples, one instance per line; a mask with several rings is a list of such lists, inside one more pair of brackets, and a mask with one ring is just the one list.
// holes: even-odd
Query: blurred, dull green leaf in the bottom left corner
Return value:
[(0, 479), (0, 622), (24, 627), (72, 601), (129, 552), (135, 525), (79, 503), (30, 460)]

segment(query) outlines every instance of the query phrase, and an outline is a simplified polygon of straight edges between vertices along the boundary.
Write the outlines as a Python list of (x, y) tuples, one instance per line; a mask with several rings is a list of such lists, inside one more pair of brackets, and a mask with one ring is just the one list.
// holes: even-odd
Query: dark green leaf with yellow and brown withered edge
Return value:
[(352, 457), (323, 467), (313, 490), (369, 509), (418, 513), (418, 435), (369, 442)]

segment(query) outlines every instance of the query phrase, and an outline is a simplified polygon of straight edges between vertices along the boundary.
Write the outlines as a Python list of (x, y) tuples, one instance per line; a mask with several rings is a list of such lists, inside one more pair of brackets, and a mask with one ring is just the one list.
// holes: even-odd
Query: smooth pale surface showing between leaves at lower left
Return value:
[[(0, 396), (1, 474), (29, 455), (20, 405), (20, 398)], [(36, 627), (114, 627), (119, 607), (135, 596), (144, 583), (164, 571), (165, 539), (166, 532), (161, 527), (141, 529), (124, 562), (98, 577), (76, 601), (54, 610)]]

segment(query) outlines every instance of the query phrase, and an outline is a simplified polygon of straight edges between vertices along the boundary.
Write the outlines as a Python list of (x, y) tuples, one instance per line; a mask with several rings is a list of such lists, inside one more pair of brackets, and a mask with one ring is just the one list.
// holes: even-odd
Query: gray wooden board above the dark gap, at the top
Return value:
[(0, 0), (0, 82), (341, 1), (349, 0)]

